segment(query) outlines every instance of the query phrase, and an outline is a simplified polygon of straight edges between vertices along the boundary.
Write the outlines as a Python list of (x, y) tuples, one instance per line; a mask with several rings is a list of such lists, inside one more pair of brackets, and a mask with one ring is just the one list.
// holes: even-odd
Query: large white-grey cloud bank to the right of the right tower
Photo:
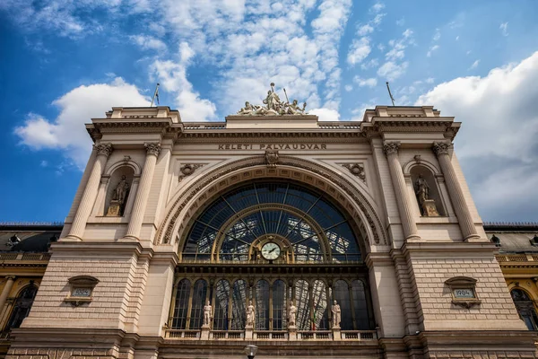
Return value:
[(440, 83), (416, 102), (462, 122), (456, 153), (486, 220), (514, 214), (535, 220), (538, 212), (537, 81), (535, 52), (484, 77)]

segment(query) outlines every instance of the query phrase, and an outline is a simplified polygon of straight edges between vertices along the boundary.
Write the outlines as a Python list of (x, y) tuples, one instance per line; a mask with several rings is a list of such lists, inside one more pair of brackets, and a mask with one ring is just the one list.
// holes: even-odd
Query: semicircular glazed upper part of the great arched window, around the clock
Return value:
[(214, 200), (192, 224), (182, 258), (261, 259), (267, 239), (281, 247), (281, 262), (360, 260), (348, 218), (330, 199), (283, 182), (251, 183)]

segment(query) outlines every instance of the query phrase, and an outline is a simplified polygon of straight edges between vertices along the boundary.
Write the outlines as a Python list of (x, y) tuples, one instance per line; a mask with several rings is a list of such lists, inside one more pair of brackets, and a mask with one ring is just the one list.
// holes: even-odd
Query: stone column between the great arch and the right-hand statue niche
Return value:
[(398, 204), (398, 212), (402, 227), (404, 228), (404, 236), (406, 241), (420, 240), (417, 223), (412, 215), (411, 200), (407, 195), (407, 187), (405, 186), (404, 171), (398, 159), (398, 150), (400, 149), (399, 142), (386, 142), (383, 145), (383, 151), (388, 160), (390, 177), (393, 182), (396, 194), (396, 203)]

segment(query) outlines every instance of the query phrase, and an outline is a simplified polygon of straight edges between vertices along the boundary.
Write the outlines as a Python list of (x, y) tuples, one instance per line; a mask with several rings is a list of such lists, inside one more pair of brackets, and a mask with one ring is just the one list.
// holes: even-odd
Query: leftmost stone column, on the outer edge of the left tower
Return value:
[(86, 183), (81, 202), (76, 210), (71, 230), (66, 237), (77, 241), (82, 241), (86, 222), (88, 221), (88, 217), (90, 217), (91, 208), (97, 197), (101, 175), (105, 169), (105, 164), (107, 164), (108, 156), (112, 153), (112, 144), (94, 144), (93, 148), (97, 151), (97, 158), (93, 163), (90, 178), (88, 179), (88, 183)]

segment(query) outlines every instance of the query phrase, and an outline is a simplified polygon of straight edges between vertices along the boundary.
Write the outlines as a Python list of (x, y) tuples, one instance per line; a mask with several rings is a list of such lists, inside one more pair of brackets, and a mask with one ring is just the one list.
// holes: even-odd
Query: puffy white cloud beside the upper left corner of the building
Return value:
[(117, 77), (111, 83), (79, 86), (53, 104), (60, 110), (54, 120), (30, 113), (14, 132), (32, 149), (65, 149), (65, 156), (83, 168), (91, 151), (84, 124), (90, 118), (102, 118), (113, 106), (149, 106), (150, 101), (136, 86)]

